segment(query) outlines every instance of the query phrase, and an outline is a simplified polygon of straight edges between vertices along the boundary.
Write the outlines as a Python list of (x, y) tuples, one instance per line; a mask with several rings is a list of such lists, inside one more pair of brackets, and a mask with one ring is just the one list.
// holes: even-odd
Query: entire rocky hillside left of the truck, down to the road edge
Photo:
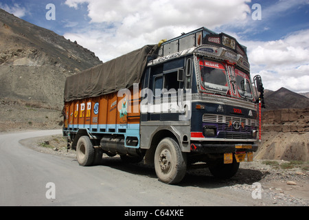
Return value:
[(60, 129), (65, 78), (100, 63), (77, 42), (0, 9), (0, 132)]

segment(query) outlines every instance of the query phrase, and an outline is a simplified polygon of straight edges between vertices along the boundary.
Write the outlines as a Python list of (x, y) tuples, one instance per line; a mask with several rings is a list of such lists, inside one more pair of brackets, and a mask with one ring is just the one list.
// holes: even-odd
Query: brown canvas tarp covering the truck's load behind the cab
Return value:
[(140, 83), (147, 65), (147, 57), (156, 45), (146, 45), (101, 65), (67, 77), (65, 102), (111, 94)]

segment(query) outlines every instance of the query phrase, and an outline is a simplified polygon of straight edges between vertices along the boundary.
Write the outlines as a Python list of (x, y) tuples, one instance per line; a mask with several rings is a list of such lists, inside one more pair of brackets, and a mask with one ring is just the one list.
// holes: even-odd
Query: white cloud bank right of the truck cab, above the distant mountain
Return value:
[(288, 34), (278, 41), (246, 44), (251, 72), (262, 76), (267, 89), (309, 91), (309, 30)]

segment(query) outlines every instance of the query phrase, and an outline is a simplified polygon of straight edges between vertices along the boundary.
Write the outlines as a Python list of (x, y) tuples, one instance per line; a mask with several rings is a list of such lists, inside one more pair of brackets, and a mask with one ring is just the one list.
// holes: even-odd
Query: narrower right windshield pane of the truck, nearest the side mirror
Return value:
[(249, 76), (247, 74), (244, 74), (238, 69), (235, 69), (235, 74), (236, 74), (238, 94), (243, 98), (252, 99), (253, 94), (251, 91)]

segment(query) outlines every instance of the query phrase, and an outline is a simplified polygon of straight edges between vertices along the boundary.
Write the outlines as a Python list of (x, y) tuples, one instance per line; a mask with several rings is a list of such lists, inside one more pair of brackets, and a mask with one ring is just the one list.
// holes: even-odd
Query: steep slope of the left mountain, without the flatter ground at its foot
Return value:
[(62, 109), (65, 78), (100, 63), (77, 42), (0, 9), (0, 98), (5, 103)]

